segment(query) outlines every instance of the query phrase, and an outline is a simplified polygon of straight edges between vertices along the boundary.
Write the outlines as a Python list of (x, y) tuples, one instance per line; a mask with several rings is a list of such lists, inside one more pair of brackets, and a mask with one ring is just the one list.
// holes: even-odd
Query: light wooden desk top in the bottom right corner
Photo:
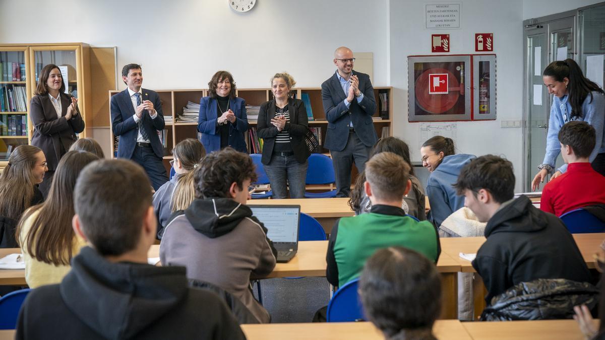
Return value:
[(584, 339), (574, 320), (462, 322), (462, 326), (475, 340)]

